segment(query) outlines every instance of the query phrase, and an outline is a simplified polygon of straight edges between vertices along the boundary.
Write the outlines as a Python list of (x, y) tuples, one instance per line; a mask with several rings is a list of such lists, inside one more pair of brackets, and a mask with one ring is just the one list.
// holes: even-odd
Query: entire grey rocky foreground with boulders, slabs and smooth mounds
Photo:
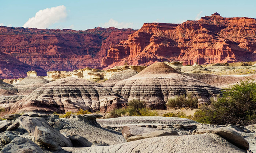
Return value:
[(3, 153), (256, 152), (256, 125), (208, 125), (185, 118), (98, 114), (11, 114), (0, 121)]

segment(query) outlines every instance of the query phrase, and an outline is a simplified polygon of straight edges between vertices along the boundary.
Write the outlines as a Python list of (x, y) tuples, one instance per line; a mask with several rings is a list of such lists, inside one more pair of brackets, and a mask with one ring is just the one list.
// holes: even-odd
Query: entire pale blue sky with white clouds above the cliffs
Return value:
[(0, 25), (139, 29), (146, 22), (181, 23), (214, 12), (223, 17), (256, 18), (255, 8), (255, 0), (0, 0)]

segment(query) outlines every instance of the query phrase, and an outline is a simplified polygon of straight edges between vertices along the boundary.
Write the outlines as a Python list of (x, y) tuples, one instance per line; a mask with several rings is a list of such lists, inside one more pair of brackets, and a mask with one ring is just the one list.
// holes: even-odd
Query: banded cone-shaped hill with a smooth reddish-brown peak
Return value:
[(112, 90), (127, 101), (139, 99), (148, 107), (164, 109), (165, 103), (175, 95), (192, 92), (200, 103), (208, 103), (210, 97), (221, 93), (217, 87), (207, 85), (189, 76), (182, 75), (165, 63), (148, 66), (131, 78), (117, 82)]

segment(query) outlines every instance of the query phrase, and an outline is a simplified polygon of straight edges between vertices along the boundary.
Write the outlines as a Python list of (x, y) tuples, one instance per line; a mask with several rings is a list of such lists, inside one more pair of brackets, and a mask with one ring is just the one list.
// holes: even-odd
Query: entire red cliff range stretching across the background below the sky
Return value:
[(209, 64), (256, 60), (256, 19), (218, 13), (181, 24), (144, 23), (140, 30), (86, 31), (0, 26), (0, 78), (36, 70), (73, 71), (124, 64), (182, 61)]

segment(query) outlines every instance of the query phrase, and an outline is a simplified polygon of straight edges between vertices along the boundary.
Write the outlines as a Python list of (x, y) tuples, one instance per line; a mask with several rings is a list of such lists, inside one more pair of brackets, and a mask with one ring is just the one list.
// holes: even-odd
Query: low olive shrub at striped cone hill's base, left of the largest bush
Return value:
[(193, 93), (188, 93), (186, 95), (178, 95), (167, 101), (166, 106), (171, 108), (182, 108), (190, 107), (197, 108), (198, 99)]

